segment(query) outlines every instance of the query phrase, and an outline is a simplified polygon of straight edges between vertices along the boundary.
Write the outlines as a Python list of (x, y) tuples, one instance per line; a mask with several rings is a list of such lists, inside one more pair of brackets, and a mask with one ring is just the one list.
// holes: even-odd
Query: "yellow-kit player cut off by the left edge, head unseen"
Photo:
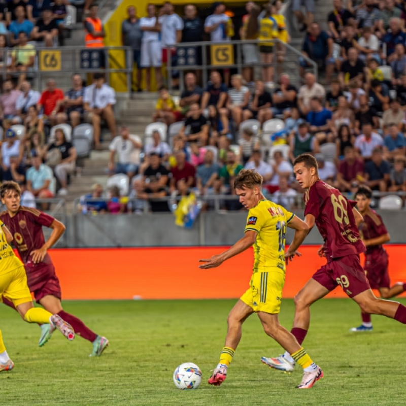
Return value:
[[(10, 245), (13, 236), (2, 221), (0, 221), (0, 227), (0, 297), (4, 296), (11, 300), (26, 322), (52, 324), (68, 340), (73, 340), (75, 332), (70, 324), (63, 321), (60, 316), (53, 315), (42, 308), (35, 308), (32, 304), (24, 265), (16, 257)], [(9, 371), (13, 367), (14, 363), (7, 354), (0, 330), (0, 371)]]

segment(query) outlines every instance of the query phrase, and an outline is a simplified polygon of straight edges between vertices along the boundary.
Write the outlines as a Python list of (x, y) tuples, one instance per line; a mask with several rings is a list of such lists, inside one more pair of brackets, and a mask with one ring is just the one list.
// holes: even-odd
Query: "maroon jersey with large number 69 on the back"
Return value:
[(365, 251), (352, 212), (355, 201), (347, 200), (339, 190), (318, 180), (304, 194), (304, 202), (304, 216), (315, 217), (328, 262)]

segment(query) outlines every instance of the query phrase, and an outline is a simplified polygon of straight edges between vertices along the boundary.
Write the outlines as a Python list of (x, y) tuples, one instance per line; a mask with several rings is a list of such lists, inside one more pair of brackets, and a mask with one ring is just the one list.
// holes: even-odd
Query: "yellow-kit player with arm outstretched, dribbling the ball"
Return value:
[[(227, 251), (210, 259), (200, 259), (200, 262), (205, 262), (200, 268), (215, 268), (254, 246), (250, 287), (228, 315), (225, 345), (209, 384), (219, 386), (226, 379), (227, 368), (241, 340), (242, 325), (250, 315), (257, 313), (265, 333), (283, 348), (293, 351), (292, 357), (303, 368), (303, 378), (297, 388), (307, 389), (323, 378), (323, 371), (311, 360), (295, 337), (279, 324), (278, 314), (285, 283), (286, 263), (295, 255), (300, 255), (296, 250), (306, 238), (309, 227), (294, 214), (265, 199), (261, 186), (262, 177), (255, 170), (242, 170), (235, 177), (235, 192), (240, 196), (242, 205), (249, 210), (245, 235)], [(293, 228), (295, 235), (285, 253), (286, 226)]]

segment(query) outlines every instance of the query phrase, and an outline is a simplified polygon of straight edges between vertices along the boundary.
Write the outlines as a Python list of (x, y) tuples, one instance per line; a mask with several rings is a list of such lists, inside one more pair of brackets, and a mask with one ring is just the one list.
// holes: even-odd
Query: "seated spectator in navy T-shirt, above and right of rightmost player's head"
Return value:
[(390, 165), (383, 159), (382, 148), (374, 148), (370, 161), (365, 163), (365, 185), (386, 192), (390, 180)]

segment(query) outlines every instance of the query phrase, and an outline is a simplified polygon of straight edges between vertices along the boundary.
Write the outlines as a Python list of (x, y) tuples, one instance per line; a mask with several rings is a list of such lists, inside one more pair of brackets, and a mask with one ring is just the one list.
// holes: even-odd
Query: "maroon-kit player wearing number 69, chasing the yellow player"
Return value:
[[(359, 254), (365, 251), (357, 225), (362, 216), (355, 201), (347, 200), (339, 190), (323, 182), (318, 175), (316, 159), (310, 154), (299, 155), (294, 161), (294, 173), (306, 190), (304, 221), (309, 230), (316, 224), (324, 240), (318, 254), (326, 257), (323, 265), (295, 296), (295, 316), (292, 334), (299, 344), (304, 341), (310, 325), (310, 306), (327, 293), (341, 286), (358, 303), (361, 311), (380, 314), (406, 324), (406, 307), (395, 301), (375, 297), (370, 289)], [(265, 358), (266, 365), (292, 371), (294, 360), (289, 353), (277, 358)]]

